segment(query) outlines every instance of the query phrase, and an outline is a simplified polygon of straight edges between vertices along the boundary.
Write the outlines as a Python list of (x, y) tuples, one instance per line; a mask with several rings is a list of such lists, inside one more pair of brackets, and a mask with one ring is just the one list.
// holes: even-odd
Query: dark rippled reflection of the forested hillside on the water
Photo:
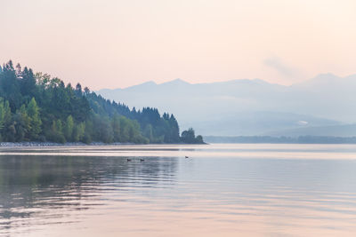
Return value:
[(134, 187), (172, 185), (176, 160), (159, 161), (160, 158), (150, 158), (150, 162), (132, 158), (132, 162), (126, 162), (123, 157), (0, 156), (0, 233), (34, 225), (40, 219), (36, 225), (53, 224), (51, 219), (55, 223), (73, 222), (61, 217), (104, 205), (99, 199), (113, 189), (124, 192), (133, 191)]

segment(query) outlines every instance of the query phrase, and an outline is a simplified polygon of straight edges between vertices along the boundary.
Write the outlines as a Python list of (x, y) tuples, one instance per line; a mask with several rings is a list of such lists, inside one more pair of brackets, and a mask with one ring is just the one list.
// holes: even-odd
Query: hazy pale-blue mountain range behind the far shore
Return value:
[(176, 79), (98, 93), (129, 107), (170, 111), (183, 129), (194, 127), (203, 135), (254, 136), (312, 127), (321, 132), (356, 122), (355, 90), (356, 75), (323, 74), (291, 86), (260, 79), (195, 84)]

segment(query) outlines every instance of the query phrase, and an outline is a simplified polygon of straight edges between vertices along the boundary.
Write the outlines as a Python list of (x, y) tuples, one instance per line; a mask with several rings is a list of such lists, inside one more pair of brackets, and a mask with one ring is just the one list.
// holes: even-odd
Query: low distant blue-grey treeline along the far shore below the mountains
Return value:
[(356, 144), (356, 137), (300, 136), (300, 137), (270, 137), (270, 136), (239, 136), (219, 137), (206, 136), (209, 143), (272, 143), (272, 144)]

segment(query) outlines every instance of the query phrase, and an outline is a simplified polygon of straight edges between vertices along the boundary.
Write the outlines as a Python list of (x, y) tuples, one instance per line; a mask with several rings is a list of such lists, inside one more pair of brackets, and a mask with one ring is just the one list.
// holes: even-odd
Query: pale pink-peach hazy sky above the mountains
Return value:
[(356, 73), (355, 0), (0, 0), (0, 60), (93, 90)]

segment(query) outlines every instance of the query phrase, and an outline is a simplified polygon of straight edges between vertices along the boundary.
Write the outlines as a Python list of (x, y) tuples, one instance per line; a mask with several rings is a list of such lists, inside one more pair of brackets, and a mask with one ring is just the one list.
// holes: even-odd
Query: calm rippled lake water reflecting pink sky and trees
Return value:
[(354, 145), (0, 148), (0, 236), (355, 235)]

